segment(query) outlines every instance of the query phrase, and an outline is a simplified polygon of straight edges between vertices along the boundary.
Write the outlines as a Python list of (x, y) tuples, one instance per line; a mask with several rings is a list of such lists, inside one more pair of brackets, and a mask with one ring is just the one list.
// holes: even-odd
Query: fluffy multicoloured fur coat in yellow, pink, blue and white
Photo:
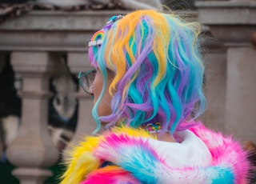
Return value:
[[(214, 133), (202, 124), (185, 131), (186, 138), (181, 142), (165, 142), (171, 149), (172, 146), (177, 147), (173, 150), (160, 147), (162, 142), (145, 130), (128, 127), (114, 128), (99, 137), (87, 137), (71, 153), (61, 183), (248, 182), (250, 164), (246, 160), (246, 152), (238, 142)], [(182, 136), (180, 135), (181, 139)], [(198, 144), (202, 149), (191, 146), (182, 155), (182, 149), (190, 146), (190, 139), (197, 142), (194, 147)], [(179, 156), (181, 162), (177, 162), (176, 158)], [(182, 157), (188, 160), (183, 163)]]

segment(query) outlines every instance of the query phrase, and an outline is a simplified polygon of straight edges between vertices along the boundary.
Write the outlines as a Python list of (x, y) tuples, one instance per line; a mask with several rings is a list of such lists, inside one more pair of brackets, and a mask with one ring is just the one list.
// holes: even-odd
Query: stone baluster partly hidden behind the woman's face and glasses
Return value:
[[(88, 56), (84, 52), (69, 52), (67, 65), (69, 66), (71, 73), (78, 76), (79, 71), (90, 70), (91, 66), (87, 58)], [(91, 110), (93, 108), (92, 98), (89, 94), (86, 94), (80, 86), (76, 97), (78, 98), (78, 122), (70, 145), (78, 144), (85, 135), (91, 134), (96, 127), (91, 115)], [(67, 150), (69, 150), (69, 148), (67, 148)]]

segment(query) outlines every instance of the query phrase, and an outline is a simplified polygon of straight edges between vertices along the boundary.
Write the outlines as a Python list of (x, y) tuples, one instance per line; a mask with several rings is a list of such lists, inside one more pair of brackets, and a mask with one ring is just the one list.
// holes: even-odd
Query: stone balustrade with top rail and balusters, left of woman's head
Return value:
[[(90, 68), (87, 42), (95, 30), (118, 11), (31, 11), (0, 26), (1, 54), (10, 53), (14, 72), (22, 77), (22, 118), (18, 135), (8, 146), (7, 158), (22, 184), (39, 184), (51, 175), (46, 168), (58, 161), (48, 124), (49, 78), (60, 66), (61, 54), (73, 74)], [(79, 89), (78, 123), (70, 144), (94, 130), (91, 98)]]

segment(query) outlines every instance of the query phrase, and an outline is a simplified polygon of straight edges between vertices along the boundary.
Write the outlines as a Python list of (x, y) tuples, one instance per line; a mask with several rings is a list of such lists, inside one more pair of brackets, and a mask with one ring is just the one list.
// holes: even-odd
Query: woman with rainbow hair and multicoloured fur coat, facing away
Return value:
[[(106, 132), (74, 148), (62, 183), (246, 183), (246, 152), (195, 119), (205, 109), (198, 23), (138, 10), (89, 42), (80, 83)], [(92, 82), (92, 84), (90, 83)]]

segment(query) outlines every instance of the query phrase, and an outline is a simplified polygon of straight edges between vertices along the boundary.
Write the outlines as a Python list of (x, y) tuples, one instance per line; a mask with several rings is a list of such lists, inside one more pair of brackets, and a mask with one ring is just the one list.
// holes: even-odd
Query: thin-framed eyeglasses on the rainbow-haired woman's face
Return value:
[(92, 85), (94, 82), (96, 74), (96, 69), (89, 70), (87, 72), (80, 71), (78, 73), (78, 81), (82, 89), (86, 91), (87, 94), (92, 95)]

